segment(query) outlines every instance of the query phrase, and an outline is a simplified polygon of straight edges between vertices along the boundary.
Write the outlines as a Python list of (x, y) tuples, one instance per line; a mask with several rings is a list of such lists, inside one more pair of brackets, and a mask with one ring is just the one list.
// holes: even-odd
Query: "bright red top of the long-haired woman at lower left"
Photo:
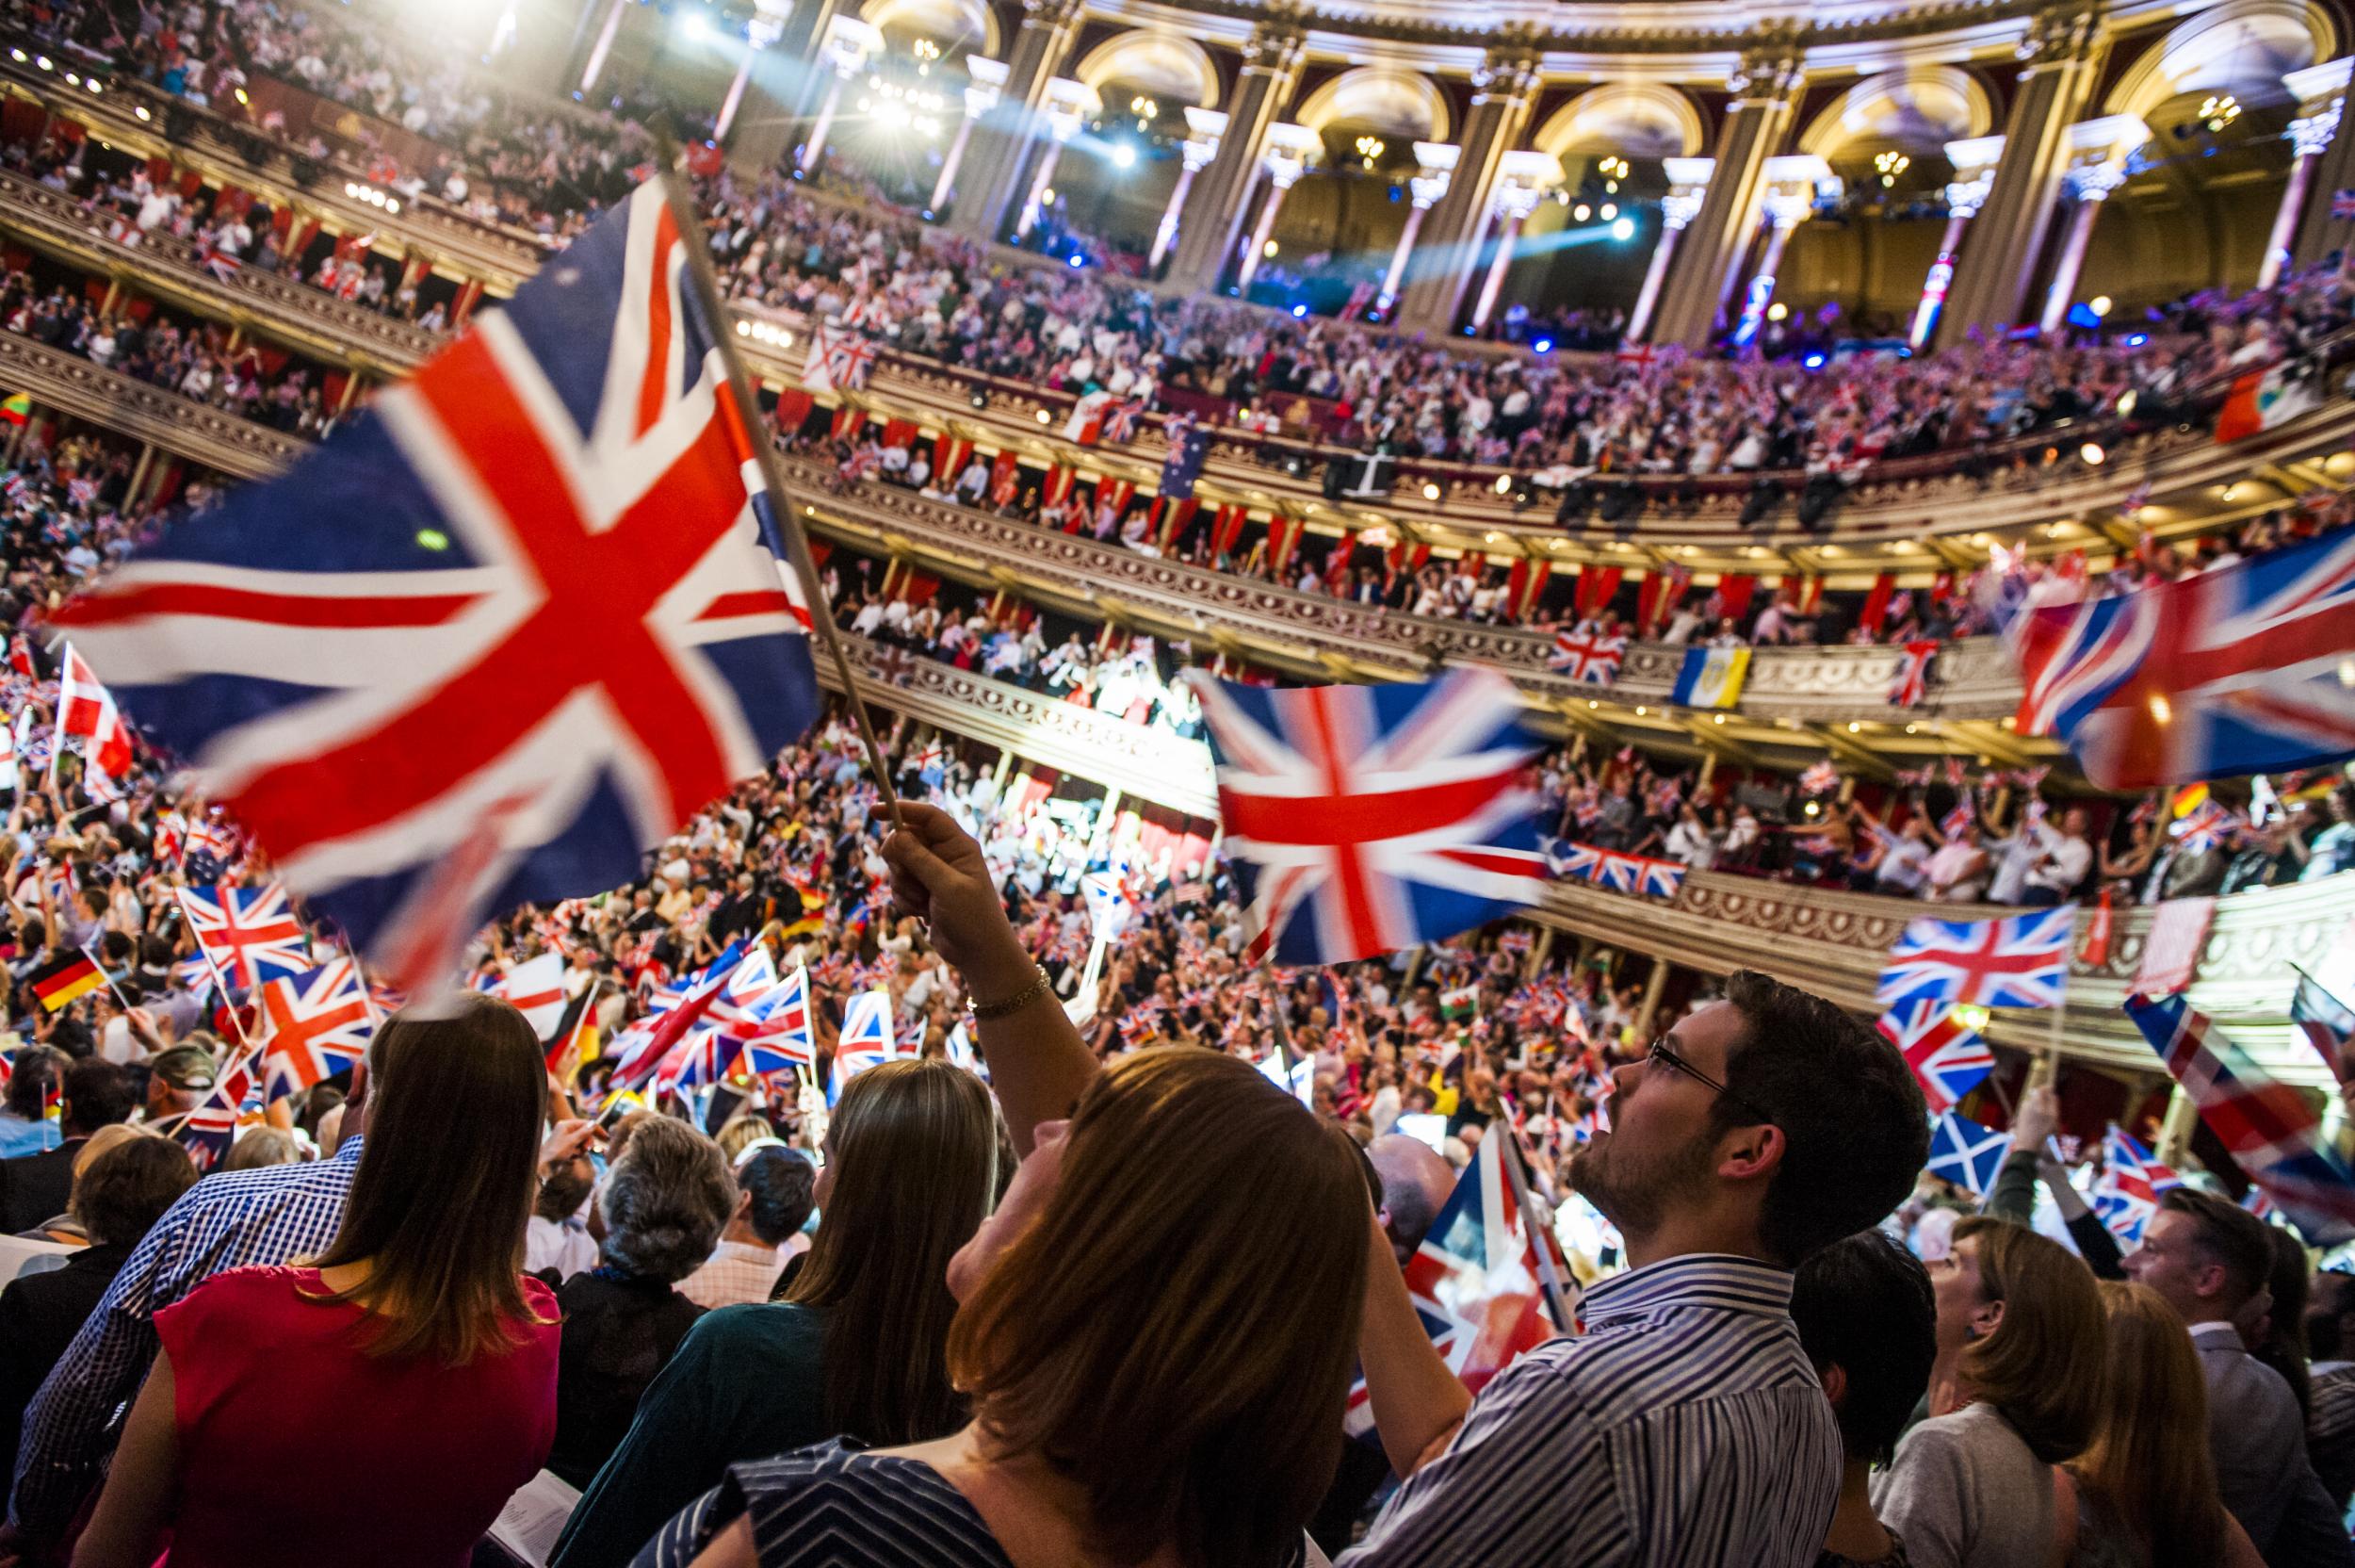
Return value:
[(464, 1568), (556, 1441), (556, 1295), (466, 1366), (367, 1356), (318, 1269), (231, 1269), (155, 1314), (179, 1384), (172, 1568)]

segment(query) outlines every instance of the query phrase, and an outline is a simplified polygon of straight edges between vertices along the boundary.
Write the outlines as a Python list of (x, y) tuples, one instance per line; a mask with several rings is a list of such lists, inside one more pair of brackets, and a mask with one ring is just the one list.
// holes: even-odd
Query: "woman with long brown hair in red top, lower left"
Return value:
[(546, 1062), (520, 1012), (462, 996), (457, 1017), (384, 1026), (327, 1250), (155, 1314), (162, 1349), (75, 1568), (148, 1568), (167, 1533), (184, 1568), (464, 1568), (539, 1469), (556, 1297), (516, 1264)]

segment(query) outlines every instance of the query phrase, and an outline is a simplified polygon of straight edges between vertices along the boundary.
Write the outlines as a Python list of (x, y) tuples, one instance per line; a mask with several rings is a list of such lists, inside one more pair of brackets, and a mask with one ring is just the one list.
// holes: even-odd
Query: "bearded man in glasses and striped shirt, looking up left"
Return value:
[(1842, 1441), (1790, 1321), (1792, 1269), (1884, 1220), (1929, 1156), (1896, 1045), (1740, 972), (1613, 1074), (1571, 1184), (1627, 1274), (1472, 1398), (1375, 1248), (1361, 1356), (1399, 1493), (1342, 1568), (1806, 1568)]

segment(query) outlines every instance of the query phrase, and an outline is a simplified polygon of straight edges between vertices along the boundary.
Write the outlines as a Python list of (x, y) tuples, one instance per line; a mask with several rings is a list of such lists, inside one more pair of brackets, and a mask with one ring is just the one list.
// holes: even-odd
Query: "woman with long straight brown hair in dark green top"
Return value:
[(688, 1330), (572, 1509), (551, 1568), (626, 1563), (730, 1464), (836, 1436), (883, 1446), (956, 1431), (949, 1260), (989, 1212), (996, 1154), (989, 1090), (961, 1067), (883, 1062), (853, 1078), (827, 1121), (808, 1264), (782, 1302), (723, 1307)]

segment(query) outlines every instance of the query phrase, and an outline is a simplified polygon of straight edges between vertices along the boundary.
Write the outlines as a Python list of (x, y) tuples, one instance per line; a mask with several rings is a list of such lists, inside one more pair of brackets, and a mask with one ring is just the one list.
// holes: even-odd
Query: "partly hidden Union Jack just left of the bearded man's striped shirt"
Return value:
[[(1432, 1344), (1479, 1394), (1526, 1351), (1571, 1333), (1573, 1288), (1550, 1231), (1533, 1222), (1510, 1135), (1484, 1137), (1429, 1234), (1406, 1260)], [(1349, 1431), (1373, 1431), (1364, 1377), (1349, 1389)]]

